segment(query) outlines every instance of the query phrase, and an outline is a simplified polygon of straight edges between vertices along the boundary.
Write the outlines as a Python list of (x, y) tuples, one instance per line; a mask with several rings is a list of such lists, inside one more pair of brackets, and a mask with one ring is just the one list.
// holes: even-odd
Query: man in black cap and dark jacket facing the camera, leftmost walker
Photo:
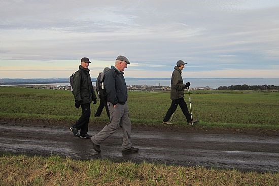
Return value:
[[(92, 86), (90, 70), (88, 69), (89, 59), (83, 57), (81, 59), (81, 65), (79, 70), (75, 72), (73, 94), (75, 97), (75, 106), (79, 108), (81, 106), (82, 115), (80, 119), (70, 127), (73, 134), (80, 138), (90, 138), (92, 135), (87, 134), (88, 123), (91, 114), (90, 103), (93, 100), (93, 104), (97, 103), (97, 98)], [(78, 132), (80, 130), (80, 133)]]

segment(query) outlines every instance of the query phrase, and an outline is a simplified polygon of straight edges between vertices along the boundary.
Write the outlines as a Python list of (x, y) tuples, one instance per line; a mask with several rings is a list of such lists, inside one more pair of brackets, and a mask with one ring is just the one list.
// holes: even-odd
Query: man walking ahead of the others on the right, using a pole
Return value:
[(163, 124), (171, 125), (169, 119), (173, 113), (175, 113), (178, 105), (180, 106), (184, 116), (188, 124), (192, 124), (191, 114), (188, 111), (187, 104), (184, 100), (184, 89), (189, 88), (190, 82), (187, 82), (185, 85), (183, 84), (182, 79), (182, 70), (185, 67), (185, 63), (182, 60), (177, 62), (177, 66), (175, 66), (175, 70), (173, 70), (171, 75), (171, 89), (170, 89), (170, 99), (171, 105), (167, 110), (166, 116), (163, 120)]

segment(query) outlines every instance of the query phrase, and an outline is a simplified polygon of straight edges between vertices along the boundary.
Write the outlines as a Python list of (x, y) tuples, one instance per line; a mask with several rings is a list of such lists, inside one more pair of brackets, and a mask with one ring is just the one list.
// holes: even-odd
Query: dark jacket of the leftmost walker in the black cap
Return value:
[(73, 94), (75, 101), (82, 101), (81, 104), (91, 103), (96, 99), (95, 91), (92, 86), (90, 70), (79, 66), (79, 70), (75, 72)]

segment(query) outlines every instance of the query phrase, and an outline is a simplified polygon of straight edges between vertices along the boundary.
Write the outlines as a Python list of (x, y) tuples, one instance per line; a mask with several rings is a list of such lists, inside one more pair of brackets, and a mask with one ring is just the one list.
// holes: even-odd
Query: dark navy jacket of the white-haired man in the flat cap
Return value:
[(116, 105), (124, 104), (128, 99), (127, 86), (122, 71), (114, 66), (104, 75), (104, 88), (108, 93), (108, 101)]

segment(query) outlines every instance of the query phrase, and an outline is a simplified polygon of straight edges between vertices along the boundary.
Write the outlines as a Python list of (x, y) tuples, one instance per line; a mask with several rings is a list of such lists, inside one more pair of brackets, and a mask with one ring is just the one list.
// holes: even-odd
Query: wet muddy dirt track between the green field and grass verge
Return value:
[[(90, 126), (90, 134), (102, 126)], [(101, 154), (90, 139), (75, 137), (68, 127), (0, 122), (0, 151), (31, 155), (60, 155), (73, 159), (112, 159), (115, 162), (156, 162), (260, 172), (279, 171), (279, 136), (274, 133), (228, 132), (133, 126), (133, 146), (138, 154), (121, 153), (119, 129), (101, 145)]]

